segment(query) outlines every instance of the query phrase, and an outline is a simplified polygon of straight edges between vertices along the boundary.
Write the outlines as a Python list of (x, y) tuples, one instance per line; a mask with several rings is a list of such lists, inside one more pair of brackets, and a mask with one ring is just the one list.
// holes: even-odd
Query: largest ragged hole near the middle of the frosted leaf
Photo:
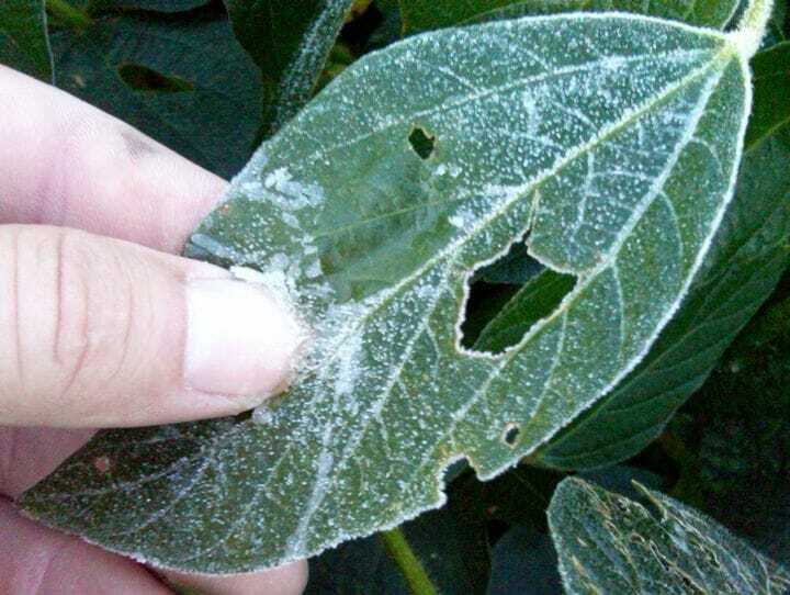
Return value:
[(518, 242), (499, 260), (477, 270), (470, 284), (461, 344), (496, 355), (551, 315), (576, 278), (548, 269), (528, 254), (524, 242)]

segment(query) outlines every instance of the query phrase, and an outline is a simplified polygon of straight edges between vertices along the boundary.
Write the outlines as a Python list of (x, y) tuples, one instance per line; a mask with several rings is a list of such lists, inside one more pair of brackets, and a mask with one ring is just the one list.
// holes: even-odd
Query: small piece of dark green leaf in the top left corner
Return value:
[(44, 0), (0, 2), (0, 64), (53, 81)]

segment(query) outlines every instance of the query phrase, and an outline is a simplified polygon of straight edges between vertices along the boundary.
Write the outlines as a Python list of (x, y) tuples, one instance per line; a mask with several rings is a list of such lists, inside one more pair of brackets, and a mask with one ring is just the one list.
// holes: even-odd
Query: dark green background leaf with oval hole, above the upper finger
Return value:
[(249, 159), (260, 80), (222, 14), (106, 18), (53, 45), (63, 89), (219, 176)]

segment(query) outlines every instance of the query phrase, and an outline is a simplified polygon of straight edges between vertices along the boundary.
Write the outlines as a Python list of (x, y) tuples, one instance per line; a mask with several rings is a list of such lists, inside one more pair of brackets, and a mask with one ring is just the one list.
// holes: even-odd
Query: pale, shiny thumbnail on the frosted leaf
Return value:
[(273, 291), (237, 279), (193, 280), (187, 307), (188, 388), (263, 401), (287, 383), (305, 334)]

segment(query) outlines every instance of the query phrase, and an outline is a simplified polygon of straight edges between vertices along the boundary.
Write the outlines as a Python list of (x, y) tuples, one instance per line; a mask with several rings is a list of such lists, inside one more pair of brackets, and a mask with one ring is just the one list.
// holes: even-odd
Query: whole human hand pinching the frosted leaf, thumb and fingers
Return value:
[(263, 289), (173, 256), (224, 187), (119, 120), (0, 66), (3, 593), (171, 593), (158, 576), (206, 593), (304, 587), (305, 562), (157, 576), (12, 505), (89, 428), (233, 415), (287, 382), (300, 343), (292, 316)]

